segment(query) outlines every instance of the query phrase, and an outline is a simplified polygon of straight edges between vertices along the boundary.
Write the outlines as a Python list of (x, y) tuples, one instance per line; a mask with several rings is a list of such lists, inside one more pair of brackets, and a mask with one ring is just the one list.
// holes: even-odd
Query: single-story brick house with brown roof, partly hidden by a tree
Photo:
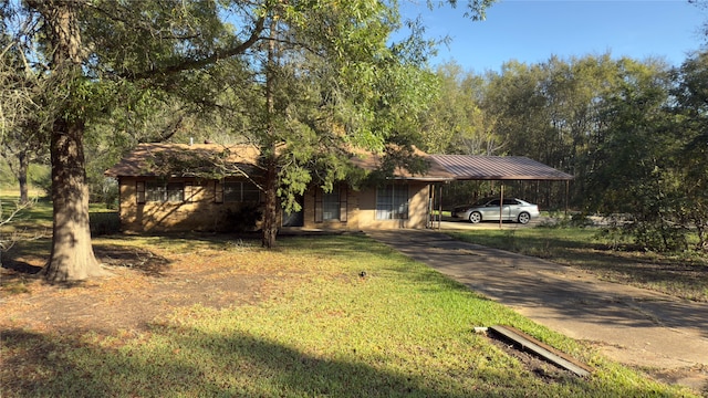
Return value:
[[(259, 150), (248, 145), (138, 145), (105, 172), (118, 180), (122, 229), (231, 230), (235, 223), (253, 219), (264, 199), (261, 181), (252, 177), (259, 156)], [(381, 163), (371, 155), (353, 161), (365, 170)], [(430, 161), (424, 176), (397, 169), (385, 182), (361, 189), (341, 182), (325, 192), (313, 185), (300, 199), (302, 210), (282, 214), (280, 223), (284, 228), (352, 231), (426, 228), (433, 184), (452, 179)]]

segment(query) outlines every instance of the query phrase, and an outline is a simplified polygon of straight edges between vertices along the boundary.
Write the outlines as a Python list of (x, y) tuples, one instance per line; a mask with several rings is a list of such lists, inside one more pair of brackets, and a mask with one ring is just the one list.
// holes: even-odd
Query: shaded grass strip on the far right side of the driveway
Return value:
[(543, 258), (602, 279), (708, 302), (708, 259), (700, 253), (654, 253), (612, 248), (596, 228), (529, 228), (449, 232), (455, 239)]

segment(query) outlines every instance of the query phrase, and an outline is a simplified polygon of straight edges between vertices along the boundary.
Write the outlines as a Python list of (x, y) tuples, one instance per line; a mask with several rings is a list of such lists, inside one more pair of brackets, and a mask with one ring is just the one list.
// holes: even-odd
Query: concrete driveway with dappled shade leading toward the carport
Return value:
[(459, 242), (440, 231), (366, 233), (539, 324), (591, 342), (610, 358), (654, 368), (652, 375), (664, 381), (708, 394), (706, 304)]

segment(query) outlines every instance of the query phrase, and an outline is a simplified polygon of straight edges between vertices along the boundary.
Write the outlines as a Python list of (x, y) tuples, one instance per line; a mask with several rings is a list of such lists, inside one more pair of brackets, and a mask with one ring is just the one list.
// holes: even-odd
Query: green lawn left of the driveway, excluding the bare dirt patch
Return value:
[[(607, 362), (363, 235), (253, 244), (147, 238), (173, 261), (198, 251), (280, 270), (258, 303), (176, 306), (145, 331), (2, 334), (3, 397), (637, 397), (690, 396)], [(102, 240), (98, 240), (102, 243)], [(362, 271), (366, 276), (360, 276)], [(30, 287), (31, 289), (31, 287)], [(82, 287), (77, 289), (81, 294)], [(95, 290), (92, 289), (92, 290)], [(538, 377), (479, 325), (516, 326), (596, 370)]]

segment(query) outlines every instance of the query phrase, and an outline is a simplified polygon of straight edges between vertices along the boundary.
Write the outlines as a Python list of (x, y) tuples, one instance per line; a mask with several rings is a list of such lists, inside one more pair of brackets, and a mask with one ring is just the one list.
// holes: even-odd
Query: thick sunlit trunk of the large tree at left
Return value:
[(91, 245), (88, 187), (83, 148), (84, 115), (75, 95), (81, 72), (81, 34), (74, 7), (79, 1), (34, 4), (51, 30), (55, 90), (66, 93), (54, 116), (50, 153), (54, 222), (52, 253), (43, 272), (54, 282), (80, 281), (104, 273)]

